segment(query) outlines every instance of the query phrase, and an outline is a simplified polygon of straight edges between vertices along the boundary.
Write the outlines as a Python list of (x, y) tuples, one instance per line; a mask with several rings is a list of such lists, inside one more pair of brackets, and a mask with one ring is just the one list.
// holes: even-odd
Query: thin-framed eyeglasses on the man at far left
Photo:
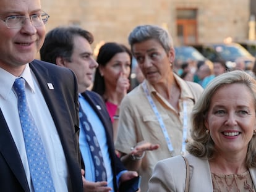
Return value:
[(25, 24), (26, 19), (30, 19), (30, 22), (35, 27), (43, 26), (47, 23), (49, 15), (46, 13), (43, 14), (33, 14), (30, 17), (26, 16), (9, 16), (5, 19), (1, 19), (6, 23), (7, 28), (22, 28)]

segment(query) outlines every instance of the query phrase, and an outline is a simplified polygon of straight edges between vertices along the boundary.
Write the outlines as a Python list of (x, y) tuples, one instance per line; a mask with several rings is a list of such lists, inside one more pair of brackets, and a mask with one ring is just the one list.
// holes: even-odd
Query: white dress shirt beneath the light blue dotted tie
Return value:
[[(56, 191), (68, 191), (67, 183), (69, 183), (69, 178), (67, 162), (61, 141), (59, 140), (58, 132), (45, 99), (43, 98), (43, 94), (40, 91), (40, 87), (38, 86), (35, 76), (30, 72), (28, 64), (20, 77), (23, 77), (27, 82), (25, 90), (29, 101), (28, 105), (30, 107), (30, 111), (32, 111), (33, 118), (35, 119), (36, 126), (40, 131), (41, 138), (45, 146), (46, 156), (48, 157), (55, 189)], [(27, 162), (27, 154), (23, 141), (22, 127), (20, 125), (19, 112), (17, 108), (17, 97), (12, 90), (15, 78), (17, 77), (0, 68), (0, 108), (19, 151), (27, 176), (28, 186), (30, 187), (30, 191), (33, 191)], [(66, 185), (64, 183), (66, 183)]]

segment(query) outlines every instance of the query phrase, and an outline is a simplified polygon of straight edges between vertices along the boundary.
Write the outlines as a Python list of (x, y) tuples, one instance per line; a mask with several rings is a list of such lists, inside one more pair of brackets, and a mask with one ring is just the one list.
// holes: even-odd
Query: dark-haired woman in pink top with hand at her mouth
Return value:
[(117, 133), (119, 104), (130, 88), (132, 53), (123, 44), (106, 43), (101, 46), (96, 61), (92, 91), (100, 94), (113, 122), (114, 141)]

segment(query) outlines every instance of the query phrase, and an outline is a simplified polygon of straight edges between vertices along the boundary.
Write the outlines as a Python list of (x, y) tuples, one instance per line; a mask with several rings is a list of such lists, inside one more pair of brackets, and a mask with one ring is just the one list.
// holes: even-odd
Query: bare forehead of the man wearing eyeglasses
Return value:
[(40, 0), (0, 0), (0, 14), (9, 12), (25, 14), (40, 9)]

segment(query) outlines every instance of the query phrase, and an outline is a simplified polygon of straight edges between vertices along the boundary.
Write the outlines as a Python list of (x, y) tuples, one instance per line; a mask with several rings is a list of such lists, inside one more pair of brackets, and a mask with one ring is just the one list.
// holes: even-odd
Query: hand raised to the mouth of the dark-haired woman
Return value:
[(119, 104), (122, 101), (122, 98), (127, 94), (127, 91), (130, 88), (130, 82), (129, 79), (126, 77), (126, 75), (121, 72), (119, 75), (119, 78), (116, 83), (116, 93), (119, 95)]

